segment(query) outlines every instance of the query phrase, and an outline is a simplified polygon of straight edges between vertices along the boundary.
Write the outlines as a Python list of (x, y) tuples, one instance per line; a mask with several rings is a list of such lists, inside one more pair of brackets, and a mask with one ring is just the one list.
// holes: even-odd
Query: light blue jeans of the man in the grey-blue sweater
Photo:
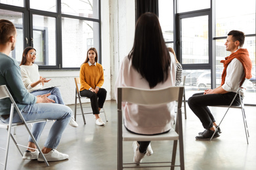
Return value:
[[(45, 118), (49, 120), (56, 120), (49, 131), (47, 141), (45, 141), (45, 147), (47, 148), (57, 148), (58, 144), (60, 143), (62, 133), (70, 122), (70, 118), (73, 113), (72, 110), (66, 105), (59, 105), (54, 103), (35, 103), (33, 105), (26, 105), (26, 107), (20, 111), (26, 121)], [(9, 118), (5, 120), (1, 118), (1, 120), (2, 122), (9, 123)], [(16, 110), (14, 111), (12, 122), (22, 122)], [(46, 122), (41, 122), (33, 124), (32, 126), (31, 131), (37, 142), (40, 139), (45, 124)], [(31, 137), (29, 138), (29, 141), (33, 143)]]

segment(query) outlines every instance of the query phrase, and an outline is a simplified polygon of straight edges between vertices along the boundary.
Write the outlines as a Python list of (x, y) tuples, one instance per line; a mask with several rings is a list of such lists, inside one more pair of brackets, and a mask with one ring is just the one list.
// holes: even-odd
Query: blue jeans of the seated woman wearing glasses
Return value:
[(35, 90), (31, 93), (35, 96), (51, 93), (51, 95), (49, 95), (49, 97), (48, 97), (49, 99), (53, 99), (55, 101), (55, 103), (57, 103), (57, 104), (64, 105), (64, 101), (61, 97), (60, 90), (56, 87), (47, 88), (45, 90)]

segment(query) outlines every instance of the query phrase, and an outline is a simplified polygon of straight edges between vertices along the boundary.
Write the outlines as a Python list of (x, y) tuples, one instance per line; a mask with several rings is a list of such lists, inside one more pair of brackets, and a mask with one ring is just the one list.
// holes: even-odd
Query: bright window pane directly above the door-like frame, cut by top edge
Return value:
[[(192, 10), (209, 9), (210, 0), (178, 0), (178, 12), (188, 12)], [(225, 6), (228, 7), (228, 6)]]

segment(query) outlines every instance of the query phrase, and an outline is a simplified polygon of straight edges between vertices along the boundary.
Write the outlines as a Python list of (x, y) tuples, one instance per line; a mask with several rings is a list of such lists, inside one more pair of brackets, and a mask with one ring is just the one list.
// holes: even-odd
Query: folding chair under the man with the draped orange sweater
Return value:
[[(248, 141), (248, 137), (249, 137), (249, 130), (247, 127), (247, 121), (246, 121), (246, 117), (245, 117), (245, 110), (244, 110), (244, 102), (241, 98), (241, 94), (240, 94), (240, 89), (241, 88), (246, 88), (247, 84), (249, 82), (249, 79), (245, 78), (244, 82), (242, 83), (242, 85), (240, 86), (240, 88), (238, 89), (238, 92), (236, 92), (236, 95), (234, 96), (234, 99), (236, 99), (236, 96), (239, 95), (239, 99), (240, 99), (240, 105), (239, 106), (232, 106), (234, 99), (231, 101), (230, 105), (217, 105), (217, 106), (211, 106), (211, 107), (227, 107), (228, 109), (226, 110), (223, 118), (221, 119), (221, 122), (223, 122), (224, 117), (226, 116), (226, 113), (228, 112), (228, 110), (230, 108), (233, 109), (241, 109), (242, 110), (242, 116), (243, 116), (243, 120), (244, 120), (244, 129), (245, 129), (245, 135), (246, 135), (246, 140), (247, 140), (247, 144), (249, 144)], [(218, 128), (221, 126), (221, 122), (219, 122), (219, 126)], [(215, 131), (216, 132), (216, 131)], [(213, 133), (213, 135), (211, 136), (211, 139), (213, 139), (213, 136), (215, 135), (215, 132)], [(210, 139), (210, 141), (211, 141)]]

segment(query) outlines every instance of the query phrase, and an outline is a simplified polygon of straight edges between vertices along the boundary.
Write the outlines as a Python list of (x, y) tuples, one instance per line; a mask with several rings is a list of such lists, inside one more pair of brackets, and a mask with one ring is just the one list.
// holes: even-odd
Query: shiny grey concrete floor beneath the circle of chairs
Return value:
[[(85, 105), (88, 105), (86, 103)], [(74, 110), (74, 105), (70, 105)], [(37, 160), (22, 160), (18, 150), (11, 141), (7, 169), (117, 169), (117, 110), (116, 101), (106, 101), (105, 111), (108, 117), (106, 126), (95, 125), (94, 116), (85, 116), (87, 124), (83, 125), (81, 115), (77, 116), (79, 127), (68, 126), (62, 135), (58, 149), (68, 154), (70, 158), (64, 161), (49, 162), (50, 167)], [(221, 120), (226, 109), (211, 108), (215, 118)], [(238, 109), (230, 109), (223, 121), (221, 137), (213, 141), (196, 141), (195, 136), (203, 127), (198, 118), (187, 107), (187, 119), (183, 116), (185, 169), (188, 170), (255, 170), (256, 169), (256, 114), (255, 107), (245, 107), (247, 124), (249, 126), (249, 144), (246, 142), (242, 114)], [(101, 115), (102, 120), (104, 116)], [(39, 142), (43, 146), (53, 122), (48, 122)], [(4, 146), (6, 131), (0, 129), (0, 146)], [(18, 127), (16, 139), (26, 145), (28, 135), (24, 127)], [(133, 160), (131, 142), (124, 144), (124, 161)], [(169, 160), (172, 142), (152, 142), (154, 154), (143, 161)], [(22, 148), (23, 149), (23, 148)], [(25, 149), (24, 149), (25, 150)], [(0, 161), (3, 162), (3, 151), (0, 151)], [(179, 156), (177, 157), (179, 161)], [(0, 165), (0, 169), (3, 166)], [(146, 169), (146, 168), (143, 168)], [(169, 168), (160, 168), (169, 169)], [(179, 169), (176, 168), (176, 169)]]

